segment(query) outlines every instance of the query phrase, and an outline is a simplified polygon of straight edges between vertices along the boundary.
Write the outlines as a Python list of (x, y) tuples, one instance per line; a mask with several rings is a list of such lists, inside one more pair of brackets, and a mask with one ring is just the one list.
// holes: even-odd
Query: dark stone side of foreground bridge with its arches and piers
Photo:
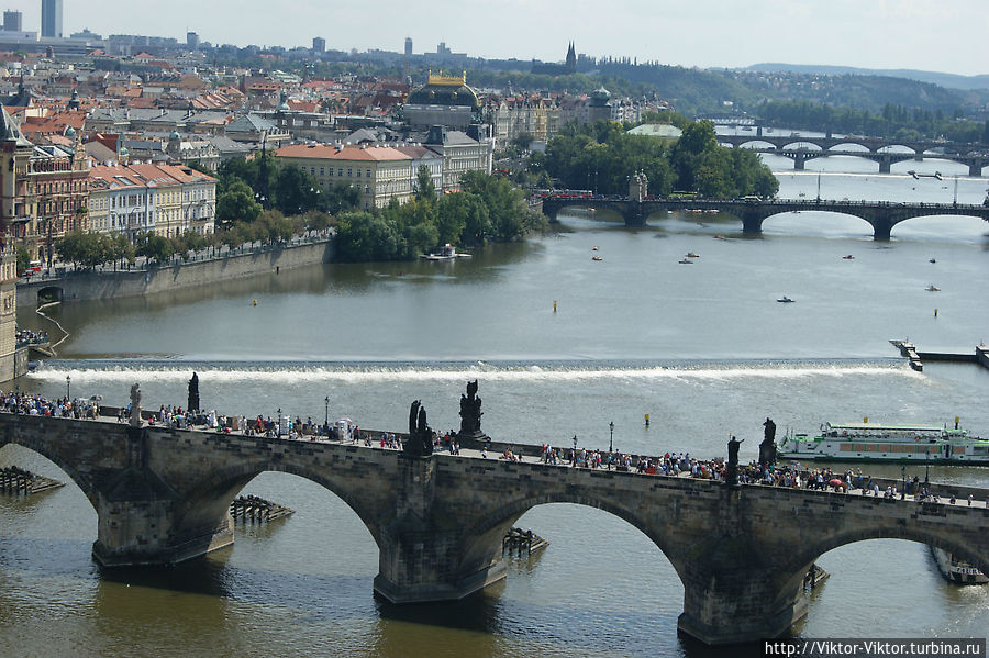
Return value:
[[(989, 572), (985, 503), (727, 487), (542, 462), (412, 457), (353, 444), (0, 413), (0, 448), (8, 443), (52, 460), (79, 486), (98, 514), (93, 557), (111, 567), (169, 565), (232, 544), (230, 502), (259, 473), (278, 471), (322, 484), (354, 510), (378, 545), (374, 589), (395, 603), (460, 599), (504, 578), (505, 531), (530, 509), (557, 502), (604, 510), (652, 539), (684, 583), (678, 628), (709, 644), (785, 633), (807, 614), (802, 582), (810, 566), (853, 542), (920, 542)], [(616, 555), (621, 550), (615, 547)]]

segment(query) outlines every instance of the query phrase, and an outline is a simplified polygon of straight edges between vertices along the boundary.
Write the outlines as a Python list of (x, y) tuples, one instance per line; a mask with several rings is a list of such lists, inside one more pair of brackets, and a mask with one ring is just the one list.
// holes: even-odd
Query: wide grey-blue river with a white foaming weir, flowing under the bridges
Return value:
[[(946, 161), (879, 176), (856, 158), (821, 158), (803, 172), (765, 158), (781, 197), (813, 198), (819, 185), (832, 199), (986, 196), (986, 178), (959, 177), (956, 192), (953, 177), (964, 172)], [(957, 415), (986, 435), (989, 370), (913, 372), (888, 343), (968, 352), (989, 338), (979, 301), (986, 233), (979, 220), (931, 218), (876, 243), (865, 222), (815, 212), (771, 218), (759, 236), (723, 215), (655, 216), (632, 230), (604, 213), (571, 213), (547, 236), (455, 263), (329, 265), (49, 309), (69, 336), (59, 358), (19, 386), (49, 397), (68, 386), (116, 404), (138, 381), (152, 408), (184, 404), (195, 370), (203, 405), (226, 413), (329, 413), (399, 430), (409, 402), (422, 399), (444, 430), (458, 426), (459, 394), (478, 379), (482, 427), (496, 439), (568, 446), (576, 435), (607, 449), (613, 422), (622, 450), (713, 457), (733, 433), (745, 439), (744, 460), (757, 454), (766, 416), (782, 432)], [(680, 264), (688, 252), (699, 257)], [(777, 303), (781, 295), (797, 303)], [(41, 317), (20, 323), (60, 335)], [(0, 464), (67, 480), (15, 446), (0, 450)], [(907, 475), (923, 478), (923, 468)], [(930, 477), (989, 487), (986, 469), (937, 467)], [(509, 559), (503, 583), (456, 604), (397, 607), (373, 596), (377, 547), (334, 494), (282, 473), (259, 476), (244, 493), (296, 514), (238, 527), (232, 549), (173, 569), (107, 571), (90, 557), (97, 518), (76, 486), (0, 495), (0, 655), (740, 655), (677, 636), (684, 590), (673, 567), (598, 510), (535, 508), (518, 525), (549, 546)], [(984, 637), (989, 626), (989, 588), (947, 583), (919, 544), (860, 542), (819, 564), (832, 576), (798, 635)]]

